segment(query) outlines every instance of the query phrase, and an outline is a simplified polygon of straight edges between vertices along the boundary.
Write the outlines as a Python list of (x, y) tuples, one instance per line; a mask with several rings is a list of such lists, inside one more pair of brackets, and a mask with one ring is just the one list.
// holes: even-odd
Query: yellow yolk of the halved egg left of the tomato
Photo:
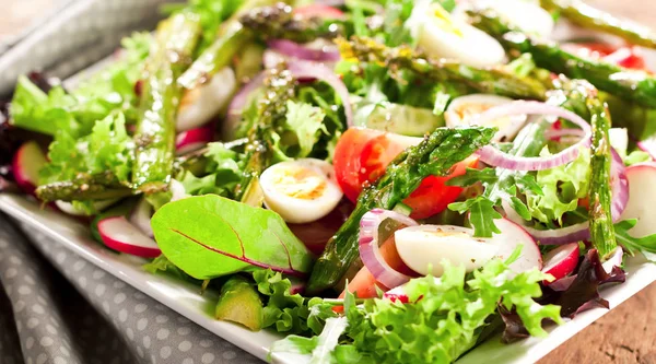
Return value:
[(272, 183), (280, 193), (303, 200), (317, 199), (326, 190), (326, 177), (311, 168), (280, 168)]

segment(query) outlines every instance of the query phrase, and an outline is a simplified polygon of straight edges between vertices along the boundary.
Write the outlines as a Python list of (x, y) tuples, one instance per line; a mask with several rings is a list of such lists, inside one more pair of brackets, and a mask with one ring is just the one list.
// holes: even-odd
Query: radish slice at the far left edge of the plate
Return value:
[(46, 165), (46, 155), (34, 141), (21, 145), (12, 161), (12, 171), (16, 185), (25, 193), (34, 195), (38, 186), (38, 172)]

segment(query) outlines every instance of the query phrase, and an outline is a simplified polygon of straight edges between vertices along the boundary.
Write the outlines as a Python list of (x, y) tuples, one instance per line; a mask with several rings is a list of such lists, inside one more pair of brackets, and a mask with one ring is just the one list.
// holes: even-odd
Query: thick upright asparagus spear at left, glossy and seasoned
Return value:
[(147, 195), (165, 191), (171, 181), (175, 121), (183, 92), (176, 80), (188, 67), (200, 32), (199, 16), (191, 12), (177, 13), (157, 26), (134, 133), (132, 184)]

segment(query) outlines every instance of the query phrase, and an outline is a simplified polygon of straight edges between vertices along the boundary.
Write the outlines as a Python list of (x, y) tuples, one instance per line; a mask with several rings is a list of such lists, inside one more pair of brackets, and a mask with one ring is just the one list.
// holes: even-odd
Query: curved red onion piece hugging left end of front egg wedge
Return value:
[(362, 262), (380, 284), (388, 289), (399, 286), (410, 277), (391, 269), (380, 256), (378, 246), (378, 226), (386, 219), (393, 219), (407, 226), (417, 226), (417, 221), (395, 211), (374, 209), (360, 221), (359, 249)]

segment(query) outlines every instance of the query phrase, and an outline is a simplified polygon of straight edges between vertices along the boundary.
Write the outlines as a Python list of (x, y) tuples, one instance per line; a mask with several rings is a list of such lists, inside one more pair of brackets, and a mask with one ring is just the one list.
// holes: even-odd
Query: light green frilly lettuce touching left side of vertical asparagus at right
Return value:
[[(540, 155), (550, 153), (544, 149)], [(576, 210), (578, 199), (587, 196), (589, 176), (590, 152), (587, 148), (582, 148), (578, 157), (571, 163), (538, 171), (536, 181), (542, 193), (526, 191), (530, 215), (544, 224), (558, 221), (562, 225), (563, 214)]]

